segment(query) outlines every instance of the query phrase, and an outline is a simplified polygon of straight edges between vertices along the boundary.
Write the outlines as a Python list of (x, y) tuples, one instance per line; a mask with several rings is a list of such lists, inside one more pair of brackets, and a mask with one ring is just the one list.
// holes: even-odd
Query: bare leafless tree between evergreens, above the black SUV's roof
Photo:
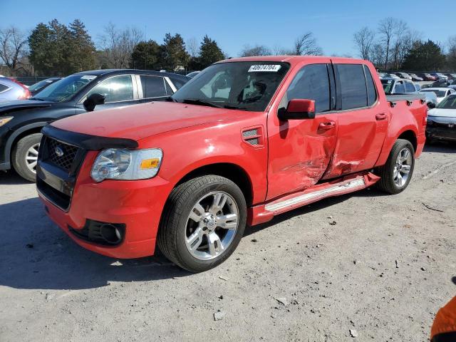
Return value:
[(105, 34), (100, 38), (105, 61), (110, 68), (128, 68), (133, 49), (144, 40), (144, 33), (139, 28), (128, 27), (119, 30), (115, 24), (105, 27)]

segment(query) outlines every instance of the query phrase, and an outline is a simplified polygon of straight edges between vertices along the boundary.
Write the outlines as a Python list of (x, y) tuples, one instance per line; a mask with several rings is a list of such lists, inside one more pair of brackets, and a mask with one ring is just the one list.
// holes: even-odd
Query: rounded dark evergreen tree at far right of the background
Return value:
[(437, 71), (445, 64), (442, 49), (433, 41), (418, 41), (405, 55), (403, 70)]

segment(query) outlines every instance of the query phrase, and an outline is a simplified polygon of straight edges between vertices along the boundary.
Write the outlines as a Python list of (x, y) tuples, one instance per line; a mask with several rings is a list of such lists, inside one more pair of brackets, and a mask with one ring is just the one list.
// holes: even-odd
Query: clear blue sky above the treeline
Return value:
[(159, 43), (167, 32), (198, 41), (207, 34), (229, 56), (237, 56), (245, 44), (289, 48), (296, 36), (312, 31), (326, 55), (356, 56), (353, 33), (362, 26), (376, 28), (387, 16), (403, 19), (423, 38), (445, 43), (456, 34), (454, 1), (441, 0), (438, 8), (432, 6), (429, 0), (0, 0), (0, 27), (14, 24), (31, 30), (54, 18), (65, 24), (81, 19), (97, 43), (111, 21), (119, 28), (137, 26)]

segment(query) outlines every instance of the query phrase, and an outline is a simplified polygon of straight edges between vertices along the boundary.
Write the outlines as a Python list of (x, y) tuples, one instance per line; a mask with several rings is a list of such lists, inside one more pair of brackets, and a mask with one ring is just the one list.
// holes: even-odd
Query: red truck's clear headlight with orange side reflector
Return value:
[(102, 180), (145, 180), (157, 175), (163, 152), (159, 148), (147, 150), (103, 150), (93, 163), (90, 175), (95, 182)]

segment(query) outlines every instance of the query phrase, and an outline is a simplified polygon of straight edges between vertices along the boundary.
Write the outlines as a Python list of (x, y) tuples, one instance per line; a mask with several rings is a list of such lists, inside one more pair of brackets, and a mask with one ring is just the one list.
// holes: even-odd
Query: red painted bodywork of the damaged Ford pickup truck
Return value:
[[(229, 61), (285, 61), (289, 73), (264, 112), (247, 112), (180, 103), (146, 103), (102, 112), (72, 116), (53, 123), (63, 130), (108, 137), (130, 138), (139, 148), (160, 147), (160, 172), (150, 180), (95, 183), (90, 167), (97, 152), (89, 152), (78, 175), (68, 213), (46, 202), (49, 216), (66, 232), (86, 219), (121, 222), (126, 237), (118, 247), (101, 247), (70, 236), (81, 246), (111, 257), (133, 258), (151, 255), (167, 197), (183, 177), (199, 167), (217, 163), (236, 165), (247, 175), (252, 191), (249, 223), (266, 222), (274, 214), (327, 197), (318, 196), (277, 212), (267, 205), (300, 194), (331, 189), (363, 180), (341, 195), (373, 185), (378, 177), (368, 172), (384, 165), (398, 137), (413, 134), (417, 157), (425, 142), (426, 106), (398, 101), (391, 107), (371, 63), (329, 57), (251, 57)], [(371, 108), (317, 114), (314, 119), (279, 120), (279, 103), (296, 73), (311, 63), (363, 63), (368, 66), (378, 89), (378, 101)], [(299, 105), (298, 105), (299, 103)], [(298, 101), (296, 110), (311, 111), (313, 101)], [(258, 145), (242, 137), (244, 130), (257, 129)]]

